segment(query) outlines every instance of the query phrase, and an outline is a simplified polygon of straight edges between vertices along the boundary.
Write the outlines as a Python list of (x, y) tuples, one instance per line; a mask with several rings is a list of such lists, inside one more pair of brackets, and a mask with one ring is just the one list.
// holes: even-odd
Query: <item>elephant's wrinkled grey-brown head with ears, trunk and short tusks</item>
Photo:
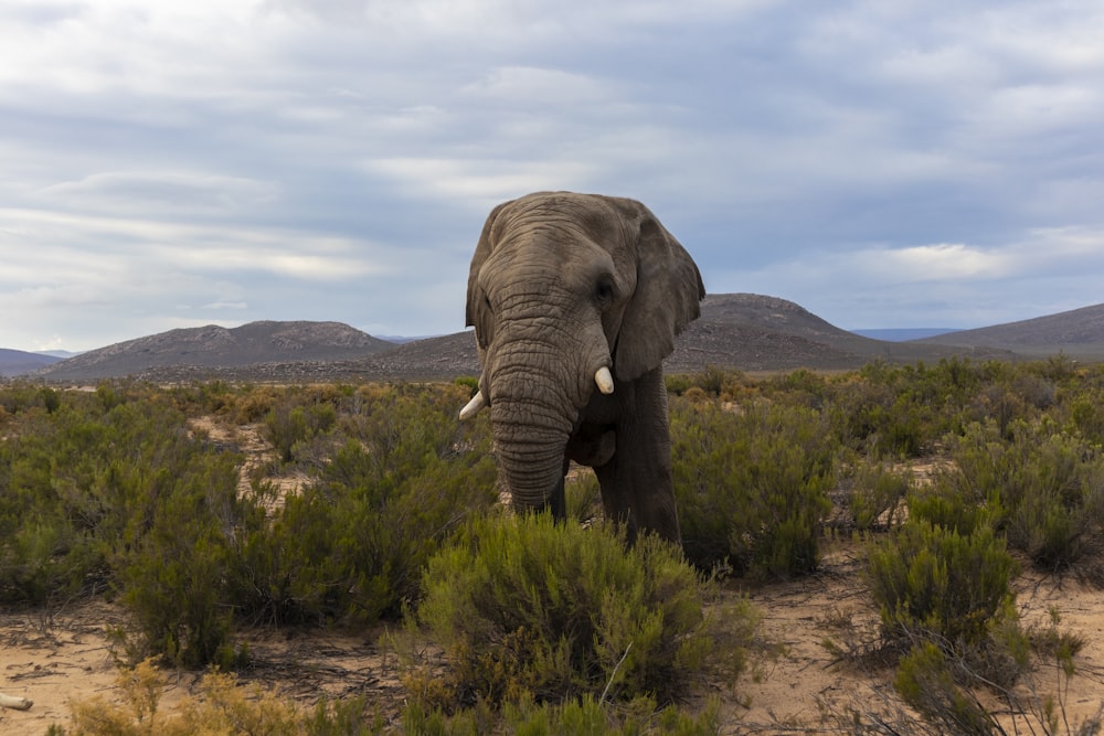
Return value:
[(490, 406), (517, 508), (548, 503), (594, 391), (660, 366), (703, 296), (689, 254), (639, 202), (545, 192), (495, 207), (468, 275), (482, 374), (461, 418)]

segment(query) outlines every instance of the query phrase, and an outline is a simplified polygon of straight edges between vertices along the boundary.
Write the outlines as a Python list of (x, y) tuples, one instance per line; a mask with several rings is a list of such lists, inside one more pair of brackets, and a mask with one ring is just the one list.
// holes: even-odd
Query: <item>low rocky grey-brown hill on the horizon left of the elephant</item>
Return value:
[(204, 374), (272, 362), (331, 362), (394, 346), (341, 322), (250, 322), (169, 330), (91, 350), (35, 373), (50, 381)]

